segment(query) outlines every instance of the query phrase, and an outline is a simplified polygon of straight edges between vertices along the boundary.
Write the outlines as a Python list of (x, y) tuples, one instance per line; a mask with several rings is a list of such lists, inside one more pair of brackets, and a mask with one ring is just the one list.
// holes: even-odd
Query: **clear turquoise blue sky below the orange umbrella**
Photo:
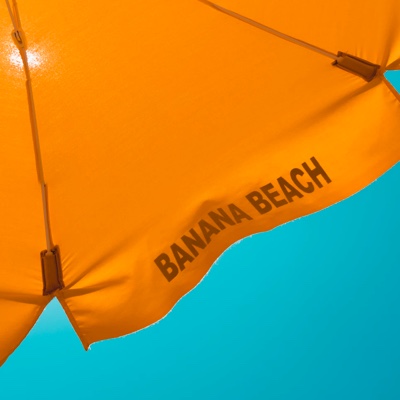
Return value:
[(87, 353), (53, 302), (0, 398), (400, 399), (399, 183), (241, 241), (165, 319)]

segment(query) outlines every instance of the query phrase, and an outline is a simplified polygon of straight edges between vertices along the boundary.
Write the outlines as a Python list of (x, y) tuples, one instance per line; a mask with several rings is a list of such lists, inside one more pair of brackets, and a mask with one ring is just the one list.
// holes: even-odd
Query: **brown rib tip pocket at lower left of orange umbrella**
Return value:
[(51, 251), (40, 253), (43, 276), (43, 296), (48, 296), (64, 287), (61, 270), (60, 249), (55, 246)]

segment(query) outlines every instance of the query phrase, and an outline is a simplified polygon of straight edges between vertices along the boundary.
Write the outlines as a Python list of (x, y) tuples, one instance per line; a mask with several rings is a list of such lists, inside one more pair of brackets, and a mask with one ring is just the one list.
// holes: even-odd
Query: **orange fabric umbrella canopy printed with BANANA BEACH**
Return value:
[(0, 362), (54, 296), (85, 348), (156, 322), (399, 159), (398, 0), (8, 5)]

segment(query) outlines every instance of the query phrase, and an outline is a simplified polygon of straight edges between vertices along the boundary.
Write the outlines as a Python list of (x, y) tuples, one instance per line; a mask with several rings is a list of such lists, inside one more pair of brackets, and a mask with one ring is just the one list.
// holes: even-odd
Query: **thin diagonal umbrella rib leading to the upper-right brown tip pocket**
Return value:
[(284, 40), (286, 40), (288, 42), (294, 43), (294, 44), (296, 44), (298, 46), (301, 46), (301, 47), (304, 47), (304, 48), (306, 48), (308, 50), (312, 50), (312, 51), (314, 51), (316, 53), (319, 53), (319, 54), (321, 54), (321, 55), (323, 55), (325, 57), (329, 57), (329, 58), (331, 58), (333, 60), (337, 61), (339, 59), (338, 55), (335, 54), (335, 53), (331, 53), (330, 51), (321, 49), (321, 48), (319, 48), (317, 46), (314, 46), (314, 45), (312, 45), (310, 43), (304, 42), (303, 40), (299, 40), (299, 39), (296, 39), (296, 38), (294, 38), (292, 36), (286, 35), (286, 34), (284, 34), (282, 32), (279, 32), (279, 31), (277, 31), (277, 30), (275, 30), (273, 28), (270, 28), (269, 26), (263, 25), (263, 24), (261, 24), (261, 23), (259, 23), (257, 21), (254, 21), (254, 20), (252, 20), (250, 18), (247, 18), (247, 17), (245, 17), (243, 15), (235, 13), (234, 11), (231, 11), (231, 10), (228, 10), (227, 8), (219, 6), (218, 4), (212, 3), (211, 1), (208, 1), (208, 0), (199, 0), (199, 1), (201, 1), (204, 4), (207, 4), (210, 7), (215, 8), (218, 11), (221, 11), (224, 14), (227, 14), (227, 15), (229, 15), (231, 17), (234, 17), (234, 18), (236, 18), (236, 19), (238, 19), (238, 20), (240, 20), (242, 22), (246, 22), (249, 25), (255, 26), (258, 29), (261, 29), (261, 30), (263, 30), (265, 32), (268, 32), (268, 33), (270, 33), (270, 34), (272, 34), (274, 36), (277, 36), (277, 37), (279, 37), (281, 39), (284, 39)]

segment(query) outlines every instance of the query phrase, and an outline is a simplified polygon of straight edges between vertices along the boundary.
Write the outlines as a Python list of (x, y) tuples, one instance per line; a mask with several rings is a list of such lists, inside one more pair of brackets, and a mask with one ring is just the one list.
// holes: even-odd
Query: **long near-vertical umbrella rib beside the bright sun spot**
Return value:
[(47, 186), (44, 179), (43, 173), (43, 163), (42, 163), (42, 155), (40, 151), (40, 141), (39, 141), (39, 130), (37, 125), (37, 118), (36, 118), (36, 110), (35, 110), (35, 102), (33, 99), (33, 89), (32, 89), (32, 80), (31, 74), (29, 70), (29, 62), (28, 56), (26, 52), (26, 39), (24, 31), (21, 28), (21, 22), (18, 13), (18, 6), (16, 0), (13, 0), (13, 7), (11, 8), (9, 0), (6, 0), (8, 12), (10, 14), (10, 18), (14, 27), (12, 32), (12, 38), (14, 40), (15, 45), (17, 46), (19, 53), (21, 55), (22, 63), (24, 66), (25, 77), (26, 77), (26, 92), (28, 96), (28, 106), (29, 106), (29, 117), (31, 122), (31, 130), (32, 130), (32, 139), (33, 139), (33, 146), (35, 151), (35, 161), (36, 161), (36, 172), (38, 181), (41, 187), (42, 193), (42, 206), (43, 206), (43, 216), (44, 216), (44, 225), (45, 225), (45, 232), (46, 232), (46, 247), (47, 252), (51, 252), (52, 249), (52, 239), (51, 239), (51, 232), (50, 232), (50, 219), (49, 219), (49, 212), (48, 212), (48, 199), (47, 199)]

